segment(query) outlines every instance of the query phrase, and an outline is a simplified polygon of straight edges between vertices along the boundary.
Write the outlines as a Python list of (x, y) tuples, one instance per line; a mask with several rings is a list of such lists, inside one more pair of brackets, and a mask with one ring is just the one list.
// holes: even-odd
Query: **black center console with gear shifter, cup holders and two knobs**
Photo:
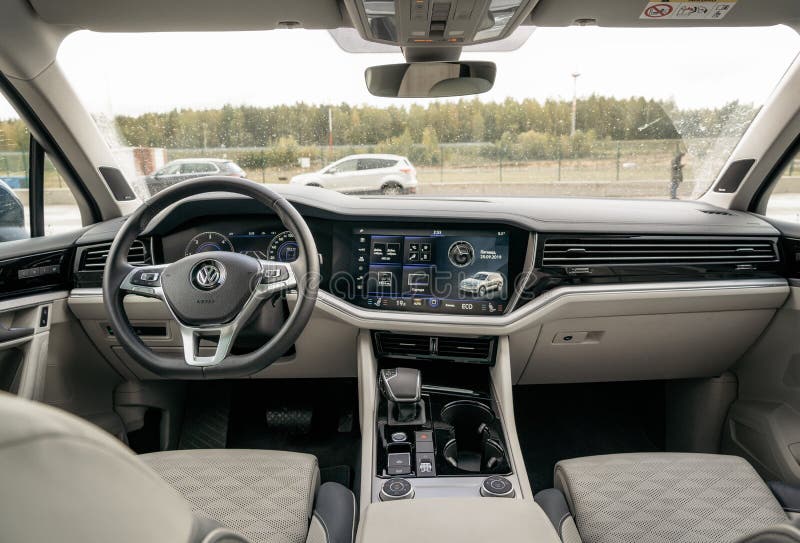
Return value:
[[(415, 338), (438, 340), (391, 336), (388, 341), (410, 347)], [(481, 338), (448, 339), (474, 351)], [(386, 335), (374, 335), (373, 502), (520, 495), (492, 386), (496, 338), (483, 339), (488, 342), (485, 358), (474, 352), (464, 358), (416, 357), (392, 354)]]

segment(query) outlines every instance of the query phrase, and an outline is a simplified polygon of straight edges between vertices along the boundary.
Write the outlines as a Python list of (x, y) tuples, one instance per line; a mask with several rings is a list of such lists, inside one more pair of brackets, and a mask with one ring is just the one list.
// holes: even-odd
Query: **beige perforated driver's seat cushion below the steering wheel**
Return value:
[(311, 455), (263, 450), (166, 451), (139, 457), (192, 510), (252, 543), (303, 543), (319, 486)]

